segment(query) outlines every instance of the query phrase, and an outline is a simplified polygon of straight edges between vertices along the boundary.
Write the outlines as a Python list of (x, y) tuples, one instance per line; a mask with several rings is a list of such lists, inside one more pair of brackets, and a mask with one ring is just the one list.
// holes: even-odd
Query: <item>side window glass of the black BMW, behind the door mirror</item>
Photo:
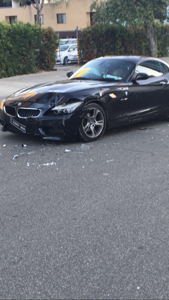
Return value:
[(137, 66), (133, 77), (136, 77), (138, 73), (146, 73), (150, 77), (158, 77), (168, 72), (169, 70), (167, 66), (163, 63), (153, 60), (147, 60)]

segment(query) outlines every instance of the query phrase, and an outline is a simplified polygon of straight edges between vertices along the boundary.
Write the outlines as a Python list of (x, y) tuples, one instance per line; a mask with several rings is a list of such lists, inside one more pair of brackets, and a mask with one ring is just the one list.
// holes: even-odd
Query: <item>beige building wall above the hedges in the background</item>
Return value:
[[(68, 4), (62, 3), (59, 6), (55, 4), (44, 4), (42, 27), (52, 27), (56, 31), (75, 30), (85, 28), (90, 24), (90, 5), (93, 0), (68, 0)], [(66, 13), (66, 23), (57, 23), (57, 13)], [(27, 7), (5, 7), (0, 8), (0, 22), (5, 20), (9, 22), (9, 16), (17, 16), (18, 21), (30, 22), (35, 24), (36, 9), (33, 5)]]

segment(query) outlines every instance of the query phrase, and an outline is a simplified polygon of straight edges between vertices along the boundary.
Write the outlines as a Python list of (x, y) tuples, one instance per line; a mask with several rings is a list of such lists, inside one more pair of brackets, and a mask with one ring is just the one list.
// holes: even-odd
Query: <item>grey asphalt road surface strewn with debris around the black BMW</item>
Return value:
[(169, 299), (168, 151), (167, 120), (85, 144), (0, 132), (0, 299)]

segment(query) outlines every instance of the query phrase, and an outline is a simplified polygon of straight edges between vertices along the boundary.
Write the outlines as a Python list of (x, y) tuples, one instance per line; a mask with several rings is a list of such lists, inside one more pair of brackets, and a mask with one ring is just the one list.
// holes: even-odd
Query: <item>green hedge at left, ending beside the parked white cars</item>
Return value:
[(0, 22), (0, 78), (53, 70), (58, 36), (51, 28)]

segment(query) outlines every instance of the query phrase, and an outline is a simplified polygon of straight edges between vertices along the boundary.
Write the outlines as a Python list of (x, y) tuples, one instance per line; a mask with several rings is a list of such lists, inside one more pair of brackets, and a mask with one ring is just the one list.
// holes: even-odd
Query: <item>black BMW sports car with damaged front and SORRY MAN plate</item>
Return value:
[(68, 80), (20, 90), (1, 103), (3, 131), (90, 142), (105, 128), (169, 117), (169, 65), (139, 56), (94, 59)]

